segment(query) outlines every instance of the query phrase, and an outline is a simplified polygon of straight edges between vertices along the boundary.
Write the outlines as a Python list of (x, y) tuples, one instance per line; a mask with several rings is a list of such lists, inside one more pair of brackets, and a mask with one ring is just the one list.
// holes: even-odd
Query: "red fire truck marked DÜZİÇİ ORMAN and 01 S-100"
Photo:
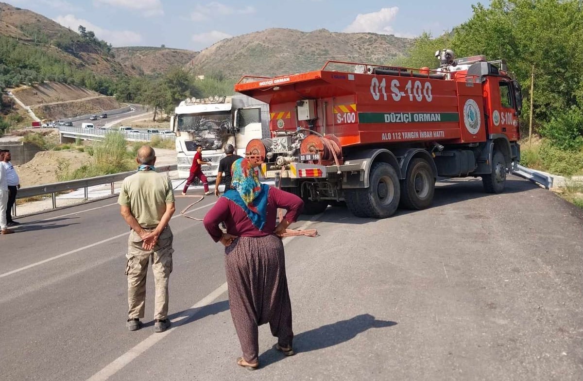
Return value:
[(307, 214), (343, 201), (371, 218), (427, 208), (438, 176), (482, 177), (487, 192), (502, 192), (520, 159), (521, 88), (503, 60), (436, 57), (435, 70), (328, 61), (244, 76), (235, 90), (269, 104), (272, 134), (251, 141), (247, 157)]

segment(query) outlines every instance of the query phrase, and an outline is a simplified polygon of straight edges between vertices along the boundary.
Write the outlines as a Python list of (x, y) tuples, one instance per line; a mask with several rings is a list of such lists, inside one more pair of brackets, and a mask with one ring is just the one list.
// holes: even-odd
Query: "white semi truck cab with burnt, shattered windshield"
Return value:
[(251, 97), (213, 96), (185, 99), (174, 111), (170, 128), (176, 133), (178, 176), (188, 177), (196, 146), (211, 166), (202, 166), (207, 177), (216, 177), (224, 146), (232, 144), (238, 155), (245, 155), (247, 143), (269, 135), (269, 104)]

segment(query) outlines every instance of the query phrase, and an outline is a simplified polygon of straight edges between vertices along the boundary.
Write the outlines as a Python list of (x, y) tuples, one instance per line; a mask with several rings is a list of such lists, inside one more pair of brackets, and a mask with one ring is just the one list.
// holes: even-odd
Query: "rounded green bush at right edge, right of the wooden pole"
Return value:
[(583, 109), (573, 106), (554, 116), (540, 128), (540, 134), (560, 149), (578, 151), (583, 147)]

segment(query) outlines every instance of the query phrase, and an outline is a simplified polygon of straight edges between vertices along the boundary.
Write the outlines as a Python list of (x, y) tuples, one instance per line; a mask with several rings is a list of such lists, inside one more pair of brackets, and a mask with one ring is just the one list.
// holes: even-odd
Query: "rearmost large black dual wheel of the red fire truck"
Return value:
[(401, 186), (395, 168), (389, 163), (374, 163), (370, 186), (347, 191), (346, 205), (357, 217), (387, 218), (395, 214), (401, 198)]

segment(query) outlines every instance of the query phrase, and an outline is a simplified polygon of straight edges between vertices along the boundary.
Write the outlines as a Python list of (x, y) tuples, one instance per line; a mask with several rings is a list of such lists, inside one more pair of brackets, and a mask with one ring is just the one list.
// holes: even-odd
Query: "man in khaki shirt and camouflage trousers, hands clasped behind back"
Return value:
[(170, 180), (156, 173), (156, 152), (142, 146), (136, 157), (138, 172), (124, 179), (118, 204), (131, 232), (128, 239), (128, 329), (138, 330), (146, 303), (146, 274), (152, 258), (156, 295), (154, 332), (170, 327), (168, 319), (168, 279), (172, 272), (173, 235), (168, 221), (174, 214), (174, 193)]

